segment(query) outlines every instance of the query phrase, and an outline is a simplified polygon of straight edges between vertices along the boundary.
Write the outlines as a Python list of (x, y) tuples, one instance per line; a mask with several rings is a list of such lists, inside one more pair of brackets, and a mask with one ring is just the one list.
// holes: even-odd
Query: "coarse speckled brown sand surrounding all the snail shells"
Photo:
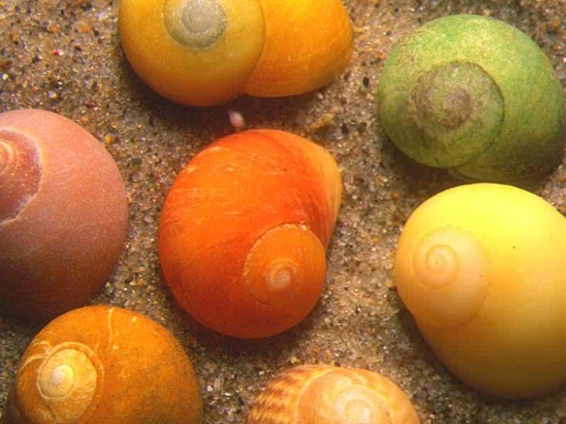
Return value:
[[(204, 423), (243, 423), (255, 394), (292, 365), (327, 363), (383, 373), (410, 396), (422, 423), (566, 423), (566, 390), (501, 402), (464, 386), (434, 358), (393, 285), (395, 242), (411, 211), (456, 184), (411, 163), (386, 138), (374, 91), (395, 42), (418, 25), (479, 13), (523, 30), (548, 54), (566, 86), (566, 1), (345, 0), (355, 29), (347, 71), (315, 93), (243, 97), (192, 108), (160, 98), (134, 74), (120, 47), (117, 1), (0, 0), (0, 110), (37, 107), (83, 125), (117, 161), (129, 198), (129, 235), (114, 275), (93, 303), (149, 315), (192, 359)], [(215, 334), (175, 306), (156, 250), (158, 218), (177, 172), (208, 143), (248, 128), (293, 131), (326, 146), (342, 171), (342, 208), (328, 251), (328, 278), (312, 314), (284, 334), (241, 341)], [(562, 213), (564, 162), (536, 187)], [(40, 326), (0, 317), (0, 405), (21, 354)]]

